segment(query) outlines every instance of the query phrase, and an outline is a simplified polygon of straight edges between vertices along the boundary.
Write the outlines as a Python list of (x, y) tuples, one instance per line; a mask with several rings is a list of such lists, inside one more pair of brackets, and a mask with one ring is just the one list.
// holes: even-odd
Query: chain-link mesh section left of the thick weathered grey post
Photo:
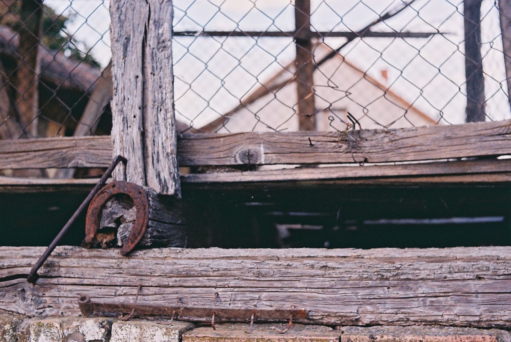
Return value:
[(108, 29), (101, 0), (0, 1), (0, 138), (110, 133)]

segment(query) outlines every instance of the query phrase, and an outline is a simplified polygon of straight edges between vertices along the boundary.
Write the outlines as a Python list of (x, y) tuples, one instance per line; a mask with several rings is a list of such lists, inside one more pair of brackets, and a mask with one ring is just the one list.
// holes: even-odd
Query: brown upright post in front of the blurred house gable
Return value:
[(316, 130), (316, 107), (314, 101), (314, 57), (311, 41), (311, 2), (296, 0), (294, 3), (296, 58), (296, 95), (298, 105), (298, 129)]

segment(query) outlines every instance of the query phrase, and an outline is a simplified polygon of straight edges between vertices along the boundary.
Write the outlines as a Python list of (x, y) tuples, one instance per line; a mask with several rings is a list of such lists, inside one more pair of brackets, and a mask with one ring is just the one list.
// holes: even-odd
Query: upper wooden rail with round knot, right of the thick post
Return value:
[(384, 163), (506, 154), (510, 137), (509, 120), (354, 132), (191, 134), (179, 140), (178, 155), (181, 166)]

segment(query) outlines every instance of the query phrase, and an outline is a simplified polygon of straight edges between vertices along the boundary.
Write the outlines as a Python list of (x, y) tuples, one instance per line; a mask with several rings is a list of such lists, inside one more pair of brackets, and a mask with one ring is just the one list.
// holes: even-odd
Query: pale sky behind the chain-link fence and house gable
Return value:
[[(58, 13), (74, 15), (68, 33), (84, 41), (105, 66), (110, 60), (108, 1), (45, 0)], [(357, 31), (401, 0), (312, 0), (312, 29)], [(175, 31), (292, 31), (289, 0), (174, 0)], [(502, 58), (498, 10), (483, 0), (482, 54), (487, 115), (511, 118)], [(464, 121), (462, 2), (416, 0), (375, 31), (443, 32), (431, 38), (363, 38), (341, 54), (371, 77), (444, 124)], [(344, 38), (325, 38), (337, 48)], [(176, 112), (200, 127), (229, 111), (294, 58), (290, 38), (175, 37), (173, 43)], [(381, 71), (386, 70), (388, 80)], [(489, 120), (490, 120), (489, 119)]]

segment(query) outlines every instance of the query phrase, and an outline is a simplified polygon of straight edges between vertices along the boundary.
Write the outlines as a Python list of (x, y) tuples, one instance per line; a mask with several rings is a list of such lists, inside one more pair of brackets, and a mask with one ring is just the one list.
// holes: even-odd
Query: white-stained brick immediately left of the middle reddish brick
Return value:
[(118, 321), (112, 325), (110, 342), (180, 342), (180, 334), (193, 327), (187, 322)]

